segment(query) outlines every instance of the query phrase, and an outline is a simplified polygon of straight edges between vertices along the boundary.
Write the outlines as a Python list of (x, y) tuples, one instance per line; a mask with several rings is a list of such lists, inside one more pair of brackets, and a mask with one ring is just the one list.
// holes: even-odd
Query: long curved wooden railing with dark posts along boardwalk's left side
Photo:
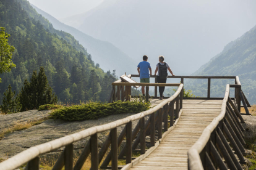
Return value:
[[(17, 155), (12, 156), (12, 158), (9, 158), (8, 160), (0, 163), (0, 170), (19, 168), (25, 163), (27, 163), (25, 169), (38, 170), (40, 165), (39, 156), (45, 153), (56, 151), (61, 147), (65, 148), (59, 156), (58, 161), (56, 161), (54, 164), (54, 170), (61, 170), (63, 167), (65, 167), (66, 170), (81, 169), (89, 155), (91, 155), (91, 169), (98, 169), (99, 164), (103, 160), (103, 163), (100, 165), (100, 167), (103, 169), (122, 168), (117, 166), (117, 161), (119, 159), (126, 160), (126, 166), (124, 166), (123, 169), (128, 169), (133, 164), (137, 163), (139, 159), (153, 152), (153, 150), (160, 144), (161, 138), (167, 134), (167, 131), (173, 129), (174, 119), (177, 121), (177, 119), (179, 119), (179, 113), (181, 113), (179, 96), (182, 96), (182, 88), (183, 84), (179, 84), (179, 87), (173, 96), (163, 100), (163, 102), (151, 108), (150, 110), (143, 111), (141, 113), (128, 116), (127, 118), (119, 119), (108, 124), (103, 124), (101, 126), (90, 127), (84, 131), (80, 131), (69, 136), (52, 140), (51, 142), (47, 142), (45, 144), (28, 148), (27, 150), (18, 153)], [(176, 105), (175, 111), (174, 103)], [(170, 119), (168, 119), (168, 115), (170, 116)], [(132, 130), (133, 121), (139, 122)], [(119, 126), (124, 126), (124, 128), (119, 136), (117, 136), (117, 127)], [(98, 152), (98, 133), (106, 131), (110, 131), (109, 135), (103, 143), (100, 151)], [(155, 135), (157, 135), (157, 140), (155, 139)], [(147, 141), (147, 136), (150, 136), (150, 141)], [(83, 152), (73, 167), (74, 142), (85, 139), (87, 137), (90, 137), (90, 140), (85, 145)], [(124, 140), (125, 137), (126, 140)], [(117, 155), (117, 150), (123, 141), (125, 141), (125, 145), (121, 149), (119, 155)], [(150, 145), (150, 148), (146, 152), (147, 143)], [(137, 151), (136, 147), (139, 144), (139, 151), (141, 155), (135, 160), (132, 160), (132, 152), (134, 150)], [(109, 147), (111, 150), (108, 153)], [(108, 166), (110, 161), (111, 166)]]

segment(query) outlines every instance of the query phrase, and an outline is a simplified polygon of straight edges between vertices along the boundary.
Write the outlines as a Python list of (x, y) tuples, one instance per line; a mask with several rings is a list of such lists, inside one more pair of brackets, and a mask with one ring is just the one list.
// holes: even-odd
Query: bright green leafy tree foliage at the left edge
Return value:
[[(0, 73), (9, 72), (16, 65), (12, 62), (14, 46), (8, 44), (10, 34), (5, 32), (6, 28), (0, 27)], [(0, 78), (1, 82), (1, 78)]]

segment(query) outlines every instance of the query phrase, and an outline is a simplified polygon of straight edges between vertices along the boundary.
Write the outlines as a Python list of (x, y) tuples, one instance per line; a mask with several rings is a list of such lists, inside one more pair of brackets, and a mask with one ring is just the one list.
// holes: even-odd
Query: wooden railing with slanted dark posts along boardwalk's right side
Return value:
[[(229, 88), (235, 87), (236, 103), (229, 97)], [(238, 94), (239, 93), (239, 94)], [(239, 110), (239, 97), (243, 97), (241, 83), (238, 76), (236, 84), (227, 84), (221, 113), (205, 128), (200, 138), (188, 152), (188, 164), (190, 170), (198, 169), (242, 169), (241, 163), (245, 163), (243, 153), (244, 119)], [(244, 100), (244, 99), (242, 99)], [(243, 101), (247, 107), (245, 101)], [(248, 102), (248, 105), (249, 102)], [(234, 152), (239, 161), (237, 160)]]

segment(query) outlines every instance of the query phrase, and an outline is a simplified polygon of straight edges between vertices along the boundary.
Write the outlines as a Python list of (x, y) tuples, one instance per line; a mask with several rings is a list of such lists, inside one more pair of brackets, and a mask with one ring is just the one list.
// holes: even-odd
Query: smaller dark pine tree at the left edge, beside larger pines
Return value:
[(0, 106), (2, 113), (16, 113), (20, 111), (19, 97), (14, 97), (15, 91), (12, 92), (11, 84), (8, 86), (8, 90), (4, 92), (4, 99)]

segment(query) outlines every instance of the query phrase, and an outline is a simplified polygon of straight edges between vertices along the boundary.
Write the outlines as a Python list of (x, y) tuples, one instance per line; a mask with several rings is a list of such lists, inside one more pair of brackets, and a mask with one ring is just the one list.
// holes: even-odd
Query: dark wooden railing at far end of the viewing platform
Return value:
[[(140, 77), (139, 75), (129, 75), (131, 78), (138, 78)], [(157, 76), (150, 76), (150, 78), (155, 78), (155, 83)], [(238, 76), (168, 76), (167, 78), (176, 78), (176, 79), (181, 79), (181, 83), (184, 84), (184, 79), (208, 79), (208, 84), (207, 84), (207, 97), (190, 97), (190, 98), (184, 98), (184, 99), (211, 99), (211, 100), (220, 100), (223, 99), (222, 97), (211, 97), (211, 79), (234, 79), (234, 83), (238, 86), (232, 86), (235, 88), (235, 94), (234, 94), (234, 99), (237, 104), (237, 109), (239, 112), (241, 111), (241, 107), (245, 108), (246, 115), (250, 115), (248, 111), (248, 107), (250, 107), (250, 103), (248, 102), (247, 98), (244, 95), (244, 92), (242, 92), (241, 89), (241, 83), (239, 81)], [(119, 80), (121, 82), (121, 80)], [(235, 85), (233, 84), (233, 85)], [(239, 86), (240, 85), (240, 86)], [(183, 89), (182, 89), (182, 94), (183, 94)], [(155, 86), (155, 95), (154, 97), (157, 97), (157, 87)], [(243, 106), (241, 106), (241, 102)], [(182, 105), (181, 105), (182, 108)]]

